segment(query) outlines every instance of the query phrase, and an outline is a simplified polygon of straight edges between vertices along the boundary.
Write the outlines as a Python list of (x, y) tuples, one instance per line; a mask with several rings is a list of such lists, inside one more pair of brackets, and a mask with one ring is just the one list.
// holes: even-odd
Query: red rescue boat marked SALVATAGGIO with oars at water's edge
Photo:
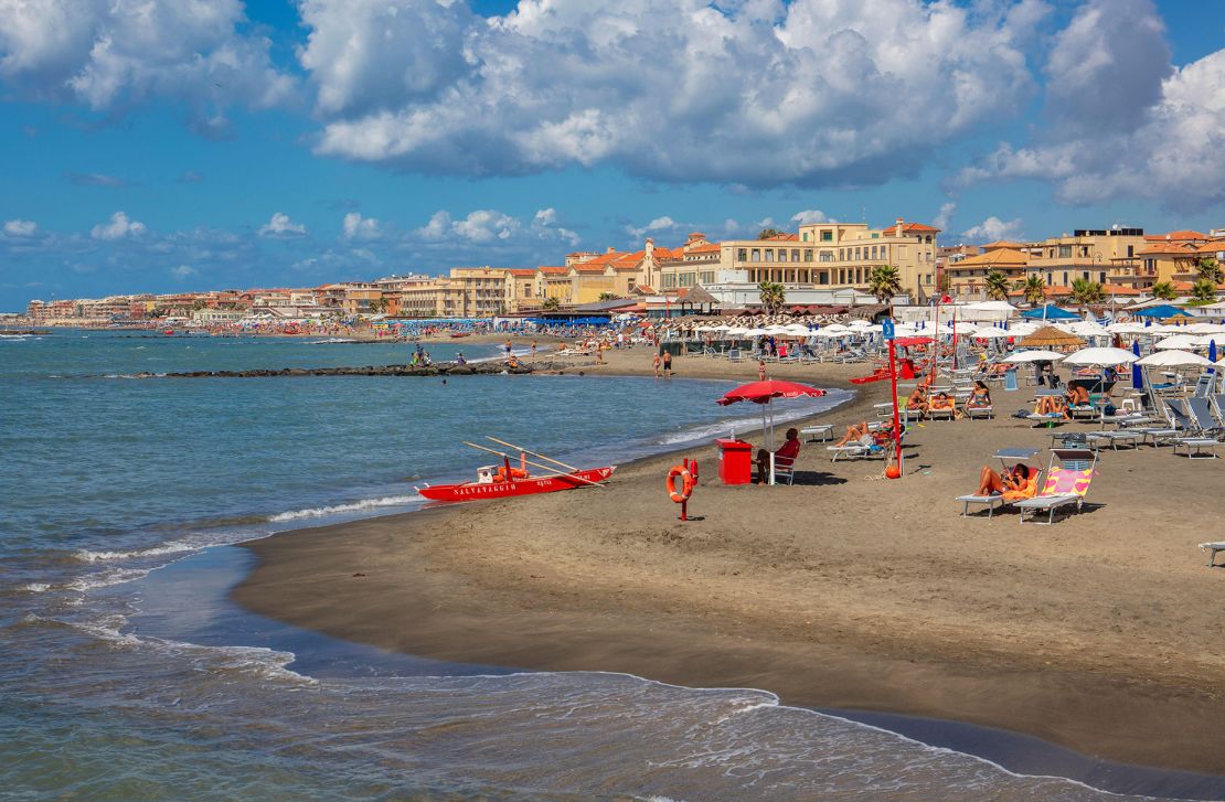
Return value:
[[(551, 493), (557, 490), (573, 490), (575, 487), (599, 487), (600, 482), (611, 476), (612, 471), (616, 470), (616, 465), (579, 469), (566, 463), (560, 463), (544, 454), (528, 451), (521, 446), (513, 446), (494, 437), (489, 437), (489, 440), (517, 449), (519, 452), (519, 467), (513, 468), (511, 465), (511, 455), (505, 452), (466, 442), (464, 446), (497, 454), (502, 458), (502, 464), (478, 468), (477, 481), (466, 481), (458, 485), (423, 485), (415, 489), (417, 492), (430, 501), (477, 501), (480, 498), (534, 496), (537, 493)], [(527, 458), (528, 454), (552, 463), (557, 468), (533, 462)], [(528, 473), (528, 465), (543, 468), (552, 473), (533, 476)], [(566, 471), (561, 473), (559, 468), (564, 468)]]

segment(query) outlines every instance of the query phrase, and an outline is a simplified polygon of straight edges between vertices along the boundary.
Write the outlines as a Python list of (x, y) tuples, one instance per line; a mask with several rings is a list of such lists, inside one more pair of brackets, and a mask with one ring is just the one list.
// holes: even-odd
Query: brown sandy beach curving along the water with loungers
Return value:
[[(649, 373), (650, 351), (567, 372)], [(755, 362), (686, 358), (686, 377), (756, 380)], [(769, 366), (846, 386), (864, 366)], [(660, 380), (665, 381), (665, 380)], [(887, 383), (827, 415), (870, 418)], [(680, 454), (625, 465), (605, 489), (480, 502), (285, 533), (250, 544), (246, 607), (336, 637), (451, 661), (624, 671), (755, 687), (784, 703), (952, 719), (1111, 760), (1225, 774), (1225, 462), (1105, 453), (1085, 512), (1055, 527), (962, 518), (998, 447), (1050, 444), (1007, 418), (926, 422), (910, 474), (831, 464), (805, 446), (795, 486), (724, 487), (713, 444), (681, 523), (664, 492)], [(1074, 424), (1071, 429), (1084, 429)], [(751, 440), (757, 440), (753, 433)]]

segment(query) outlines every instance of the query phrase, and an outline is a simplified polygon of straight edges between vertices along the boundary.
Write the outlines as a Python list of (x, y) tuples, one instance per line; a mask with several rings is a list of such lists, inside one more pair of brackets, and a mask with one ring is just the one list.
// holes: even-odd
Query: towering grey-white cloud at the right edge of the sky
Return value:
[(1170, 64), (1149, 0), (1090, 0), (1057, 38), (1049, 129), (1001, 143), (957, 184), (1038, 179), (1065, 203), (1149, 198), (1177, 211), (1225, 202), (1225, 50)]

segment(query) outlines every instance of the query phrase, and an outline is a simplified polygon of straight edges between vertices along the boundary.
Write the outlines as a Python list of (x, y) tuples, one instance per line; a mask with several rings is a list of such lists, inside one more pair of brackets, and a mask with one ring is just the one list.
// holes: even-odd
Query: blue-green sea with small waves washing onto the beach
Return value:
[[(404, 364), (413, 348), (0, 335), (0, 798), (1125, 798), (971, 754), (991, 735), (768, 688), (437, 662), (239, 609), (251, 556), (235, 544), (418, 509), (414, 484), (488, 462), (461, 444), (480, 433), (604, 464), (758, 425), (713, 403), (726, 382), (684, 378), (156, 376)], [(429, 347), (459, 349), (496, 356)], [(1154, 776), (1199, 798), (1225, 787)]]

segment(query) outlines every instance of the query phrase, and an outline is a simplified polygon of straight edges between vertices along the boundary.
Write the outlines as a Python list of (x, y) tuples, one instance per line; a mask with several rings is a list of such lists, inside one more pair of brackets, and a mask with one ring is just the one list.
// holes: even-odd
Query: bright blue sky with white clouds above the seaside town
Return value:
[(0, 0), (0, 311), (1225, 228), (1223, 0)]

